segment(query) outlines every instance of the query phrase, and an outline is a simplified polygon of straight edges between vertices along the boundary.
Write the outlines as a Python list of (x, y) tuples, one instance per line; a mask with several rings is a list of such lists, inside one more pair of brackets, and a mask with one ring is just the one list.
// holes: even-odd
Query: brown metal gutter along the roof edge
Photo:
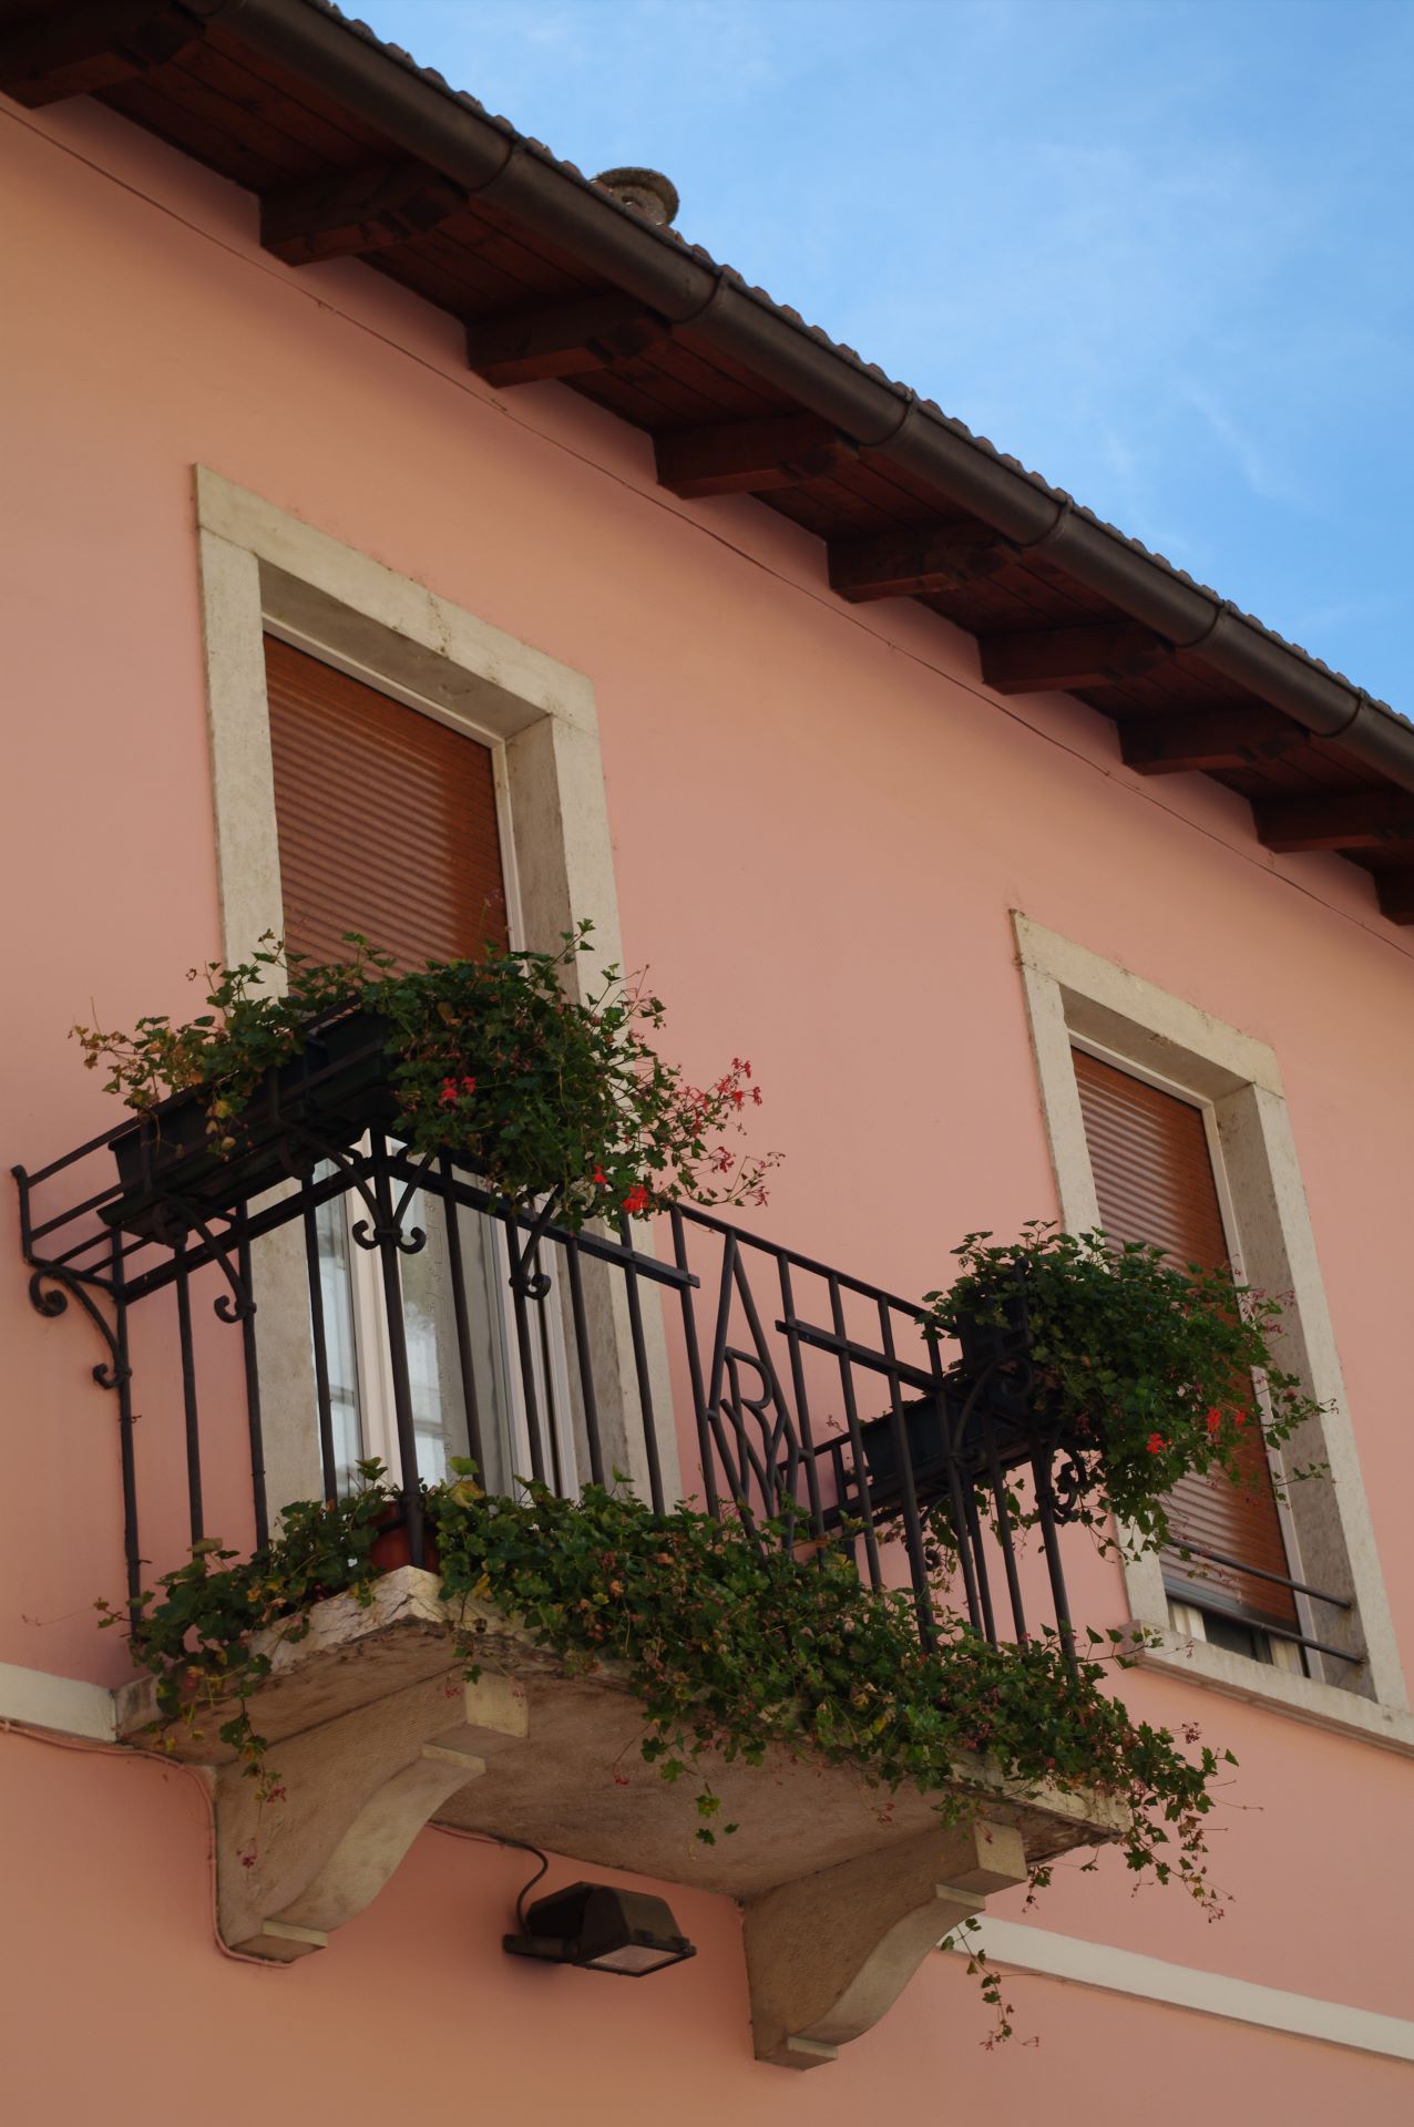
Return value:
[(948, 504), (1046, 557), (1097, 598), (1193, 649), (1371, 774), (1414, 791), (1414, 725), (1335, 679), (1231, 602), (1189, 583), (1121, 534), (997, 457), (936, 406), (870, 372), (706, 253), (608, 194), (313, 0), (185, 0), (253, 51), (334, 96), (406, 155), (544, 232), (649, 311), (742, 364), (861, 449), (936, 487)]

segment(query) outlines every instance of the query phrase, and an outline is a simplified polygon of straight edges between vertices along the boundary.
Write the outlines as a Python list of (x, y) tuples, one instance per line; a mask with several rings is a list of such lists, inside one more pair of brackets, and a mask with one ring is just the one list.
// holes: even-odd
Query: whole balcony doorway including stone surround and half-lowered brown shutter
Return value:
[[(506, 932), (553, 951), (589, 917), (597, 957), (621, 959), (597, 713), (585, 674), (206, 468), (196, 468), (196, 517), (225, 957), (247, 959), (266, 932), (327, 953), (347, 929), (383, 934), (408, 959), (476, 949)], [(574, 976), (595, 981), (583, 961)], [(302, 1251), (293, 1232), (266, 1236), (262, 1249), (283, 1238)], [(327, 1232), (319, 1280), (344, 1308), (344, 1461), (361, 1442), (378, 1451), (385, 1393), (361, 1368), (355, 1336), (357, 1308), (378, 1306), (381, 1295), (359, 1291), (366, 1251), (347, 1242), (347, 1232)], [(438, 1357), (447, 1297), (436, 1263), (427, 1251), (402, 1266), (404, 1314), (430, 1325), (419, 1370), (419, 1459), (430, 1466), (455, 1453), (461, 1395)], [(504, 1270), (487, 1261), (481, 1283), (500, 1291)], [(268, 1263), (259, 1306), (262, 1353), (276, 1344), (283, 1353), (268, 1378), (262, 1370), (266, 1485), (279, 1506), (321, 1491), (302, 1253), (285, 1276)], [(634, 1383), (634, 1325), (606, 1266), (585, 1266), (585, 1310), (604, 1378), (617, 1368)], [(506, 1366), (500, 1304), (487, 1304), (478, 1334), (478, 1404), (485, 1374), (506, 1468), (525, 1470), (519, 1361)], [(670, 1412), (657, 1310), (644, 1310), (642, 1336), (655, 1406)], [(387, 1349), (381, 1338), (364, 1344)], [(557, 1363), (553, 1340), (532, 1351), (532, 1380)], [(568, 1397), (559, 1408), (568, 1412)], [(621, 1404), (604, 1393), (600, 1438), (606, 1461), (646, 1491), (646, 1446), (629, 1412), (629, 1393)], [(563, 1480), (576, 1468), (574, 1423), (566, 1417), (563, 1436), (557, 1427), (549, 1442)], [(657, 1455), (676, 1497), (670, 1423)]]

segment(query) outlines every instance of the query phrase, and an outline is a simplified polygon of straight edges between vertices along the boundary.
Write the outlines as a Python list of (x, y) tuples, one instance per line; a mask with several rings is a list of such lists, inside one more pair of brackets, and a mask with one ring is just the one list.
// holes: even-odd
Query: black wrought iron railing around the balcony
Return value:
[(946, 1608), (989, 1640), (1070, 1634), (1082, 1472), (1031, 1408), (1025, 1325), (955, 1357), (919, 1306), (744, 1227), (674, 1208), (657, 1255), (646, 1225), (566, 1232), (415, 1157), (381, 1095), (313, 1106), (272, 1074), (232, 1161), (176, 1110), (15, 1170), (34, 1306), (104, 1346), (132, 1595), (208, 1534), (264, 1542), (296, 1470), (330, 1497), (381, 1453), (421, 1563), (449, 1453), (493, 1489), (627, 1472), (655, 1508), (680, 1453), (708, 1510), (910, 1587), (925, 1642)]

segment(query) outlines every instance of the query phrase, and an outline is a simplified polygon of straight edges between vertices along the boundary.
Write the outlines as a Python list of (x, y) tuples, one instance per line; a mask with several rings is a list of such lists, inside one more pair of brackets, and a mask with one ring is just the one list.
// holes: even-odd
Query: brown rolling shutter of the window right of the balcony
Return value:
[[(1129, 1072), (1072, 1051), (1084, 1136), (1095, 1170), (1099, 1223), (1114, 1240), (1148, 1240), (1174, 1263), (1227, 1266), (1227, 1236), (1201, 1108), (1161, 1093)], [(1272, 1495), (1272, 1474), (1257, 1427), (1244, 1440), (1246, 1480), (1189, 1476), (1169, 1497), (1174, 1534), (1246, 1565), (1289, 1574)], [(1276, 1625), (1297, 1625), (1291, 1589), (1255, 1574), (1163, 1555), (1174, 1595), (1206, 1610), (1231, 1610)]]

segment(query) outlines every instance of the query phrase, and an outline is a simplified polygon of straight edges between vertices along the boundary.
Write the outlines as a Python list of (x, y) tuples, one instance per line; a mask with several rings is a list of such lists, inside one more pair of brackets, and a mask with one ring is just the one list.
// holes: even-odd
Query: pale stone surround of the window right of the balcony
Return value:
[[(1282, 1327), (1284, 1359), (1327, 1406), (1314, 1429), (1320, 1438), (1303, 1431), (1291, 1442), (1291, 1453), (1297, 1463), (1325, 1459), (1331, 1483), (1291, 1487), (1284, 1521), (1293, 1574), (1354, 1602), (1354, 1644), (1365, 1651), (1361, 1668), (1316, 1655), (1310, 1657), (1316, 1674), (1297, 1676), (1174, 1631), (1163, 1572), (1152, 1555), (1125, 1565), (1131, 1619), (1163, 1640), (1142, 1657), (1144, 1665), (1201, 1678), (1231, 1697), (1414, 1753), (1414, 1716), (1276, 1055), (1265, 1042), (1019, 910), (1012, 925), (1063, 1225), (1070, 1232), (1099, 1225), (1072, 1064), (1072, 1046), (1080, 1044), (1182, 1089), (1208, 1110), (1242, 1272), (1265, 1291), (1295, 1297)], [(1320, 1617), (1327, 1623), (1316, 1636), (1340, 1644), (1340, 1631), (1329, 1625), (1331, 1610)]]

